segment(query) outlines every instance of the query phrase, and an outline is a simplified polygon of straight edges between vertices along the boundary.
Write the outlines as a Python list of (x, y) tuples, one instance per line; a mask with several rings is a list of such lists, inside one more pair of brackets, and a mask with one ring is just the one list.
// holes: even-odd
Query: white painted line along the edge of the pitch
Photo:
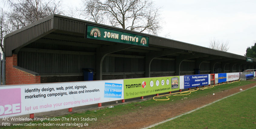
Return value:
[[(254, 87), (256, 87), (256, 86), (254, 86)], [(251, 88), (254, 88), (254, 87), (251, 87)], [(246, 90), (249, 90), (249, 89), (251, 89), (251, 88), (248, 88), (248, 89), (246, 89)], [(246, 90), (243, 90), (243, 91), (246, 91)], [(238, 93), (241, 93), (241, 92), (243, 92), (243, 91), (240, 91), (240, 92), (238, 92)], [(231, 96), (236, 95), (236, 94), (238, 94), (238, 93), (231, 94), (230, 96), (227, 96), (227, 97), (224, 97), (224, 98), (222, 98), (222, 99), (216, 100), (216, 101), (214, 101), (214, 102), (211, 102), (210, 104), (206, 104), (206, 105), (204, 105), (204, 106), (202, 106), (202, 107), (198, 107), (197, 109), (191, 110), (191, 111), (186, 112), (186, 113), (184, 113), (184, 114), (178, 115), (178, 116), (176, 116), (176, 117), (172, 117), (172, 118), (170, 118), (170, 119), (167, 119), (167, 120), (165, 120), (165, 121), (159, 122), (159, 123), (157, 123), (157, 124), (153, 124), (153, 125), (151, 125), (151, 126), (148, 126), (148, 127), (142, 128), (142, 129), (148, 129), (148, 128), (151, 128), (151, 127), (155, 127), (155, 126), (157, 126), (157, 125), (159, 125), (159, 124), (163, 124), (163, 123), (165, 123), (165, 122), (171, 121), (171, 120), (176, 119), (176, 118), (178, 118), (178, 117), (181, 117), (181, 116), (183, 116), (183, 115), (190, 114), (191, 112), (194, 112), (194, 111), (196, 111), (196, 110), (199, 110), (199, 109), (201, 109), (201, 108), (204, 108), (204, 107), (206, 107), (206, 106), (209, 106), (209, 105), (211, 105), (211, 104), (214, 104), (214, 103), (216, 103), (216, 102), (218, 102), (218, 101), (220, 101), (220, 100), (223, 100), (223, 99), (225, 99), (225, 98), (231, 97)]]

